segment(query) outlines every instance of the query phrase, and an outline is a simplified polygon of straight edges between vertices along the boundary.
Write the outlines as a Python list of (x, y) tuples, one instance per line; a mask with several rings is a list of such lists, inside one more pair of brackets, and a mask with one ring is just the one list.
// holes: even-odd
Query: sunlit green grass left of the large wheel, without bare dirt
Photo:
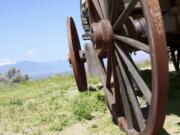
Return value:
[(0, 134), (56, 135), (90, 120), (96, 121), (96, 126), (89, 125), (89, 132), (94, 132), (107, 116), (110, 124), (103, 91), (96, 90), (98, 82), (91, 79), (90, 91), (84, 93), (78, 92), (73, 76), (1, 85)]

